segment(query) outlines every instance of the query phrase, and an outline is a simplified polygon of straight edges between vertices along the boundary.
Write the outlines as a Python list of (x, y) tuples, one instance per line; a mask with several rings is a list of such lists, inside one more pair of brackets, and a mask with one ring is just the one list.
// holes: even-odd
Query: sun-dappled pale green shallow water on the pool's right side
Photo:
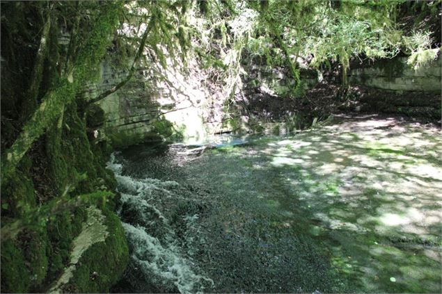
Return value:
[(372, 291), (393, 282), (418, 289), (425, 279), (440, 289), (434, 272), (423, 269), (436, 266), (429, 260), (441, 262), (439, 135), (393, 118), (345, 120), (267, 143), (260, 152), (269, 167), (291, 174), (285, 185), (313, 213), (310, 234), (342, 244), (333, 253), (341, 270), (366, 272), (359, 279)]

